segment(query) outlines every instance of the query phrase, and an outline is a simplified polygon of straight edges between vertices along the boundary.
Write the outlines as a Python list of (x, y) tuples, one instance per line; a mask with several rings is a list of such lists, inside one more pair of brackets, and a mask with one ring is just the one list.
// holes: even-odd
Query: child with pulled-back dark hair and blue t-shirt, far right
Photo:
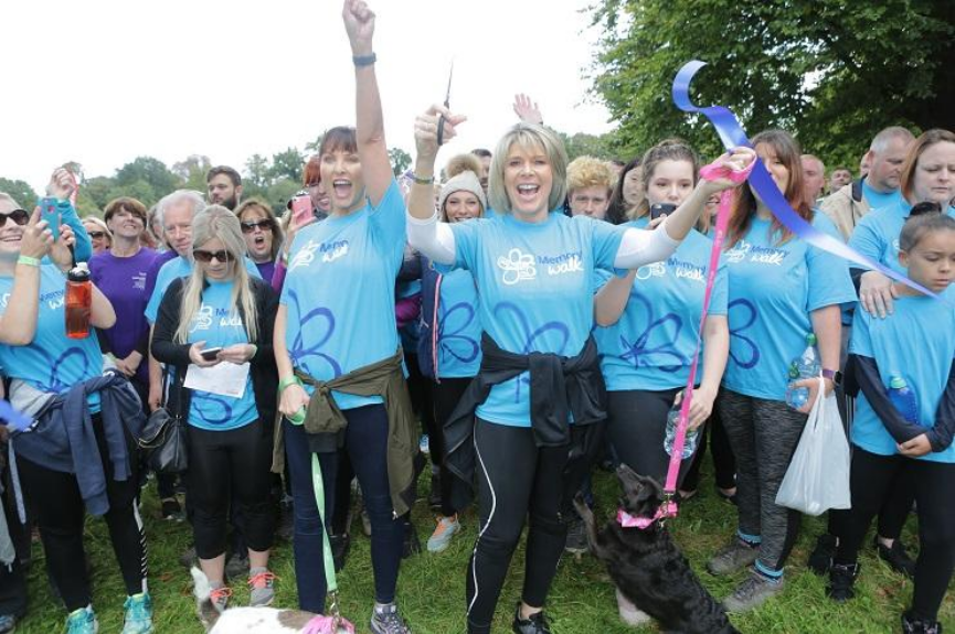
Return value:
[[(899, 264), (942, 301), (895, 284), (894, 312), (856, 311), (853, 375), (861, 388), (851, 440), (852, 508), (834, 513), (839, 546), (829, 571), (836, 601), (855, 595), (858, 552), (872, 518), (896, 483), (914, 488), (921, 549), (905, 632), (938, 632), (938, 606), (955, 568), (955, 219), (910, 216), (899, 237)], [(890, 400), (901, 377), (914, 393), (916, 420)]]

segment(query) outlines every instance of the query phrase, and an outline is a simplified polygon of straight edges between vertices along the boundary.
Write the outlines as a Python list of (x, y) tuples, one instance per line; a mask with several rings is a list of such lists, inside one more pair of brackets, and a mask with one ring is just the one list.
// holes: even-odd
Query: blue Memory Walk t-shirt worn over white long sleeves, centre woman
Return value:
[[(542, 223), (501, 214), (450, 228), (455, 266), (474, 275), (481, 325), (501, 348), (580, 354), (594, 323), (594, 269), (613, 270), (626, 227), (555, 211)], [(491, 388), (477, 415), (530, 427), (529, 373)]]

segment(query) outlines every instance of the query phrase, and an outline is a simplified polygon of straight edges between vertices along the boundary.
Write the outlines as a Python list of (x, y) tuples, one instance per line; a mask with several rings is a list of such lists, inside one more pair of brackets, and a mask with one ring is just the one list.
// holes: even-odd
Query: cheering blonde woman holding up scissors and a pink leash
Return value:
[[(491, 162), (488, 194), (496, 216), (442, 223), (431, 202), (437, 130), (444, 123), (444, 139), (450, 140), (461, 121), (435, 106), (415, 122), (407, 234), (436, 264), (470, 270), (480, 299), (481, 367), (445, 426), (448, 468), (467, 493), (473, 476), (478, 488), (480, 529), (467, 573), (467, 627), (490, 631), (529, 516), (527, 570), (512, 630), (549, 634), (543, 605), (564, 549), (565, 514), (606, 418), (591, 336), (594, 272), (667, 258), (709, 194), (732, 184), (701, 183), (652, 232), (571, 218), (561, 213), (567, 187), (563, 143), (541, 126), (518, 123), (501, 138)], [(742, 168), (752, 155), (743, 148), (721, 161)], [(466, 501), (455, 498), (458, 507)]]

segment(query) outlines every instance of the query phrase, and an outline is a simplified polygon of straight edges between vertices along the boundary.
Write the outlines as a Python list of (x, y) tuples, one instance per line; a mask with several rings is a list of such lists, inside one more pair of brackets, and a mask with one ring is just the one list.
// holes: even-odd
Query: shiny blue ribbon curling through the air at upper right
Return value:
[[(740, 146), (750, 147), (751, 143), (750, 139), (746, 137), (746, 132), (743, 131), (743, 127), (740, 125), (739, 119), (736, 119), (736, 116), (733, 115), (729, 108), (724, 108), (723, 106), (699, 108), (690, 100), (690, 82), (692, 82), (693, 75), (697, 74), (697, 71), (705, 65), (704, 62), (693, 60), (680, 68), (676, 78), (673, 78), (673, 104), (685, 112), (699, 112), (707, 117), (713, 125), (713, 128), (715, 128), (717, 135), (720, 136), (720, 140), (728, 150)], [(760, 196), (760, 200), (766, 204), (773, 215), (776, 216), (776, 218), (778, 218), (778, 221), (798, 238), (818, 249), (823, 249), (824, 251), (828, 251), (839, 256), (840, 258), (847, 259), (850, 262), (857, 264), (862, 268), (879, 271), (921, 293), (935, 299), (941, 299), (929, 289), (923, 288), (921, 284), (913, 282), (905, 276), (867, 258), (862, 254), (850, 248), (843, 241), (834, 238), (828, 234), (824, 234), (804, 221), (802, 216), (789, 206), (789, 202), (786, 201), (785, 196), (783, 196), (779, 187), (777, 187), (776, 183), (773, 181), (773, 176), (770, 175), (763, 161), (758, 158), (756, 159), (756, 164), (753, 166), (753, 172), (750, 174), (750, 187)]]

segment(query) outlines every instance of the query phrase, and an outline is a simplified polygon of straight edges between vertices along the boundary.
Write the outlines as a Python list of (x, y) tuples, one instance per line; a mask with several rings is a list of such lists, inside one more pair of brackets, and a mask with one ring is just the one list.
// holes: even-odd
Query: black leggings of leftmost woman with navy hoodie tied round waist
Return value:
[[(126, 449), (129, 452), (131, 473), (127, 480), (119, 482), (113, 479), (113, 463), (108, 460), (109, 453), (99, 415), (93, 416), (93, 432), (106, 474), (109, 511), (104, 519), (109, 529), (113, 551), (119, 561), (126, 593), (138, 594), (146, 590), (147, 568), (146, 535), (136, 508), (136, 494), (139, 492), (136, 445), (127, 433)], [(92, 601), (89, 578), (86, 574), (86, 555), (83, 549), (86, 508), (76, 476), (46, 469), (22, 455), (17, 456), (17, 465), (23, 493), (36, 511), (36, 524), (43, 539), (50, 577), (60, 590), (67, 611), (85, 608)]]

